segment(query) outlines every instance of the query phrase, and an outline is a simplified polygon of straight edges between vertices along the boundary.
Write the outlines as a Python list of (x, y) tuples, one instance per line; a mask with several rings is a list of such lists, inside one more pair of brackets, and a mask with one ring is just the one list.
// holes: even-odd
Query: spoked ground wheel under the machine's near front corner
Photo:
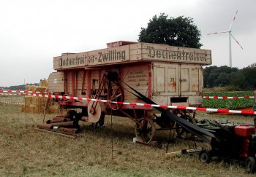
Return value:
[(146, 119), (139, 119), (140, 125), (135, 126), (135, 135), (138, 141), (149, 143), (153, 140), (156, 133), (156, 125), (154, 121), (147, 117)]

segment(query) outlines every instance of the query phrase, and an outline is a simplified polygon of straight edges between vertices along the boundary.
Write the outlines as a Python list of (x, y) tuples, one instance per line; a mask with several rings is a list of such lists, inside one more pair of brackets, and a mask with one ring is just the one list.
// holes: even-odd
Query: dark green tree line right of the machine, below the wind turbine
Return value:
[(204, 87), (227, 87), (233, 90), (255, 90), (256, 63), (245, 68), (209, 66), (203, 69)]

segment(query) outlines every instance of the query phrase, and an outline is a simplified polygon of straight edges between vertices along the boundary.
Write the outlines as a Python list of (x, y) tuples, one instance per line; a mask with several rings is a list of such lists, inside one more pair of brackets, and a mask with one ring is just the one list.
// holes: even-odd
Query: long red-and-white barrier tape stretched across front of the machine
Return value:
[(143, 106), (143, 107), (158, 107), (163, 109), (187, 109), (193, 111), (212, 111), (212, 112), (222, 112), (222, 113), (235, 113), (235, 114), (252, 114), (256, 115), (256, 111), (239, 111), (239, 110), (229, 110), (229, 109), (208, 109), (208, 108), (196, 108), (196, 107), (187, 107), (187, 106), (168, 106), (168, 105), (157, 105), (157, 104), (148, 104), (148, 103), (126, 103), (126, 102), (116, 102), (116, 101), (107, 101), (93, 98), (80, 98), (73, 96), (61, 96), (61, 95), (44, 95), (44, 94), (27, 94), (36, 97), (45, 97), (45, 98), (59, 98), (59, 99), (67, 99), (67, 100), (78, 100), (78, 101), (97, 101), (103, 103), (116, 103), (123, 105), (131, 105), (131, 106)]

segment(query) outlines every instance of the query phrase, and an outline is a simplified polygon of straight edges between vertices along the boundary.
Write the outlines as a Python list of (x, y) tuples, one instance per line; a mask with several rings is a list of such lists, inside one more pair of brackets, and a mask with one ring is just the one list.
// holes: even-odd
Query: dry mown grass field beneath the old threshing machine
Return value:
[[(23, 98), (0, 97), (6, 100), (22, 102)], [(203, 164), (197, 155), (165, 159), (165, 149), (132, 143), (135, 125), (129, 119), (113, 117), (113, 131), (110, 116), (98, 129), (81, 123), (79, 137), (71, 139), (34, 130), (43, 115), (27, 114), (25, 119), (18, 105), (0, 103), (0, 113), (0, 176), (252, 176), (239, 164), (221, 160)], [(45, 119), (54, 116), (47, 114)], [(206, 112), (198, 112), (197, 118), (248, 123), (253, 119)], [(192, 149), (193, 144), (177, 139), (169, 152)]]

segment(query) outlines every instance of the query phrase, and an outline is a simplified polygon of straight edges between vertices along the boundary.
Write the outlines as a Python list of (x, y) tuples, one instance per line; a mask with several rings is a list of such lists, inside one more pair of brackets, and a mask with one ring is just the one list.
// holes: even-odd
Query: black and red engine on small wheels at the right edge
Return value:
[(246, 162), (246, 170), (255, 173), (256, 135), (255, 127), (238, 125), (214, 130), (215, 138), (211, 139), (211, 150), (203, 149), (199, 153), (201, 162), (210, 162), (211, 157), (224, 160), (241, 160)]

